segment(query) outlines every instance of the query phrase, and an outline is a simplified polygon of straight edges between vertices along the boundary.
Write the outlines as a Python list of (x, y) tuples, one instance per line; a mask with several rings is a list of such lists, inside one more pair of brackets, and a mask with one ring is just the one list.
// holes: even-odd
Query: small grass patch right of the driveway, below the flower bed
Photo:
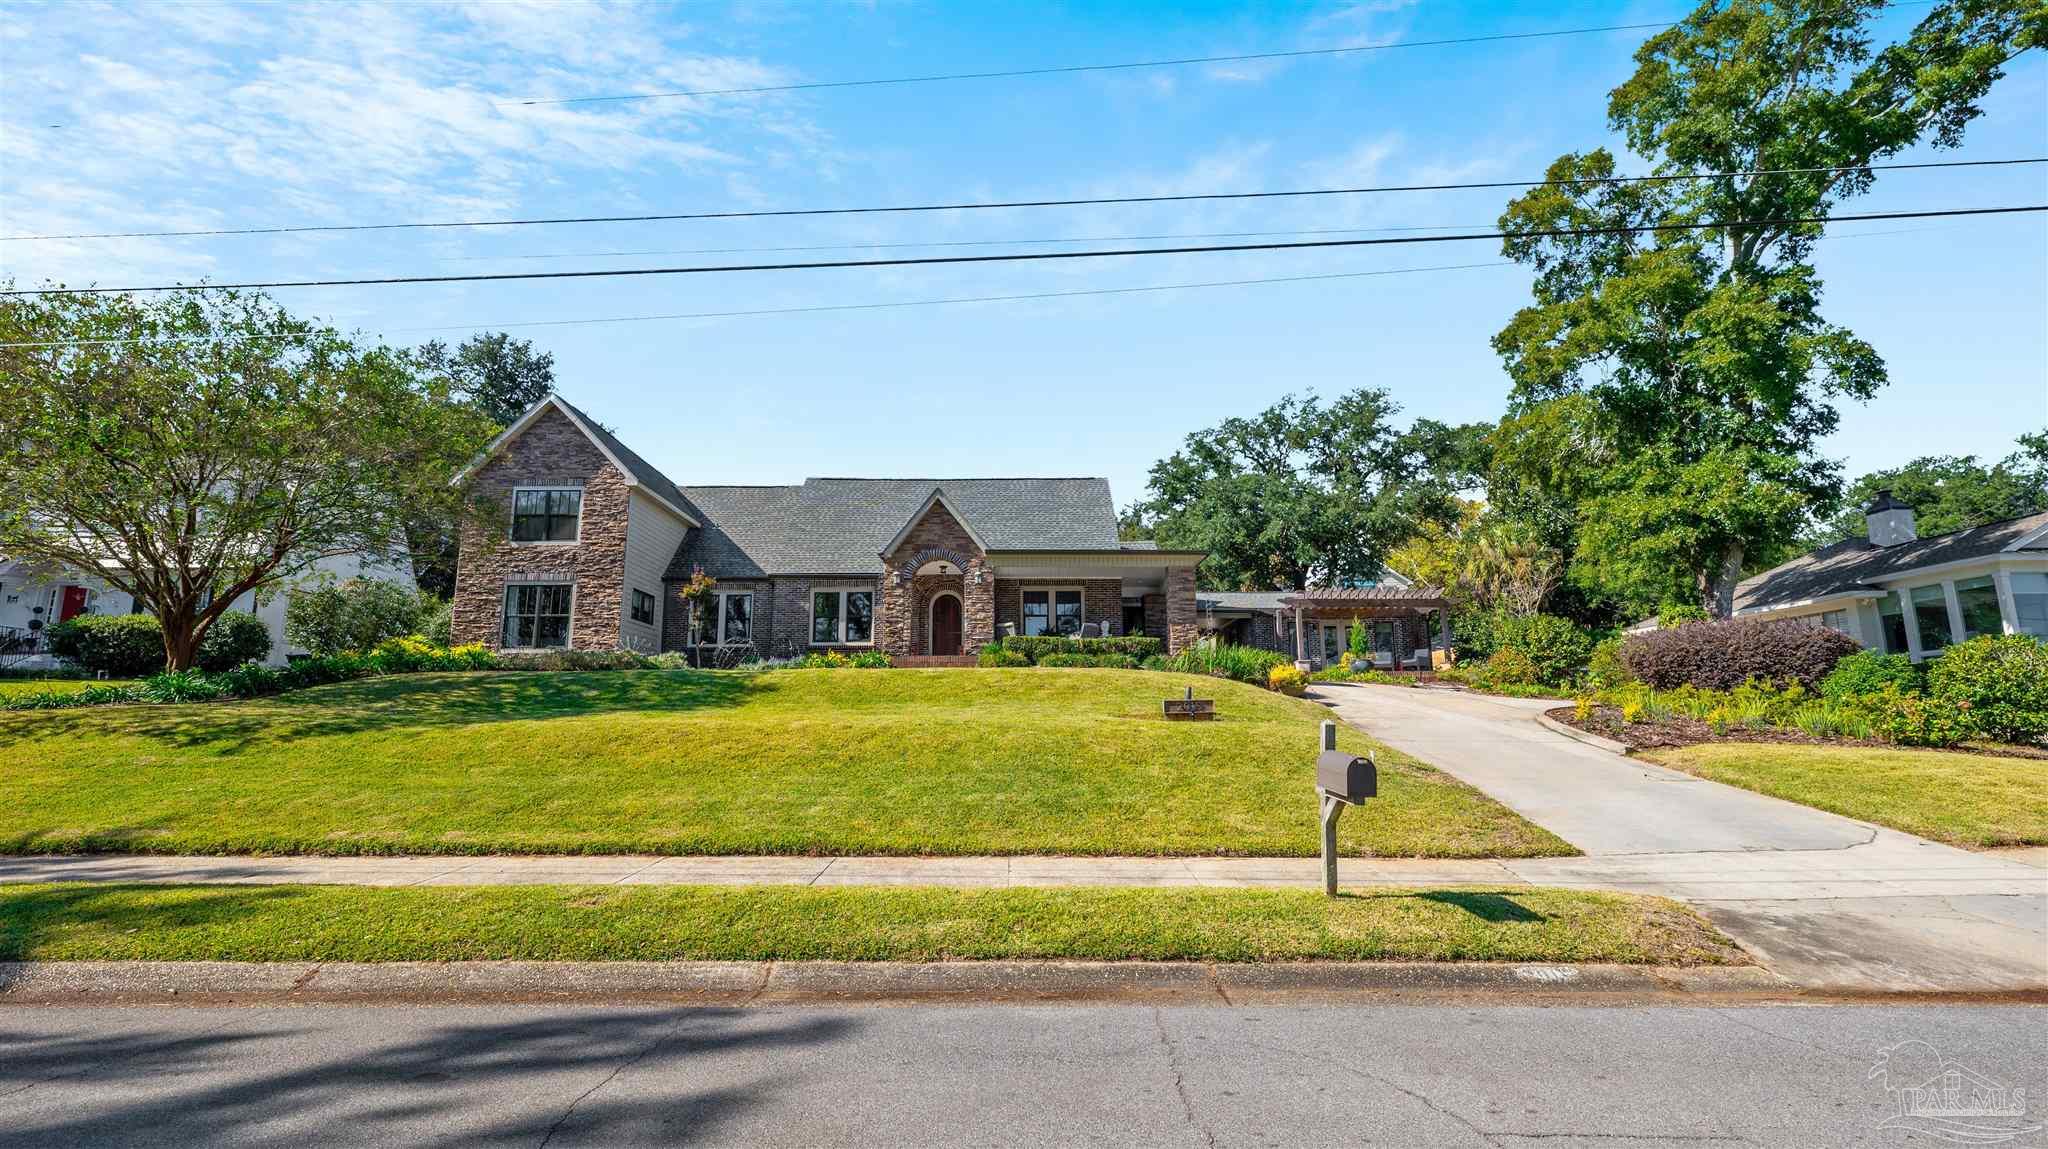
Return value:
[(2048, 844), (2048, 760), (2040, 758), (1755, 741), (1706, 741), (1647, 758), (1954, 846)]

